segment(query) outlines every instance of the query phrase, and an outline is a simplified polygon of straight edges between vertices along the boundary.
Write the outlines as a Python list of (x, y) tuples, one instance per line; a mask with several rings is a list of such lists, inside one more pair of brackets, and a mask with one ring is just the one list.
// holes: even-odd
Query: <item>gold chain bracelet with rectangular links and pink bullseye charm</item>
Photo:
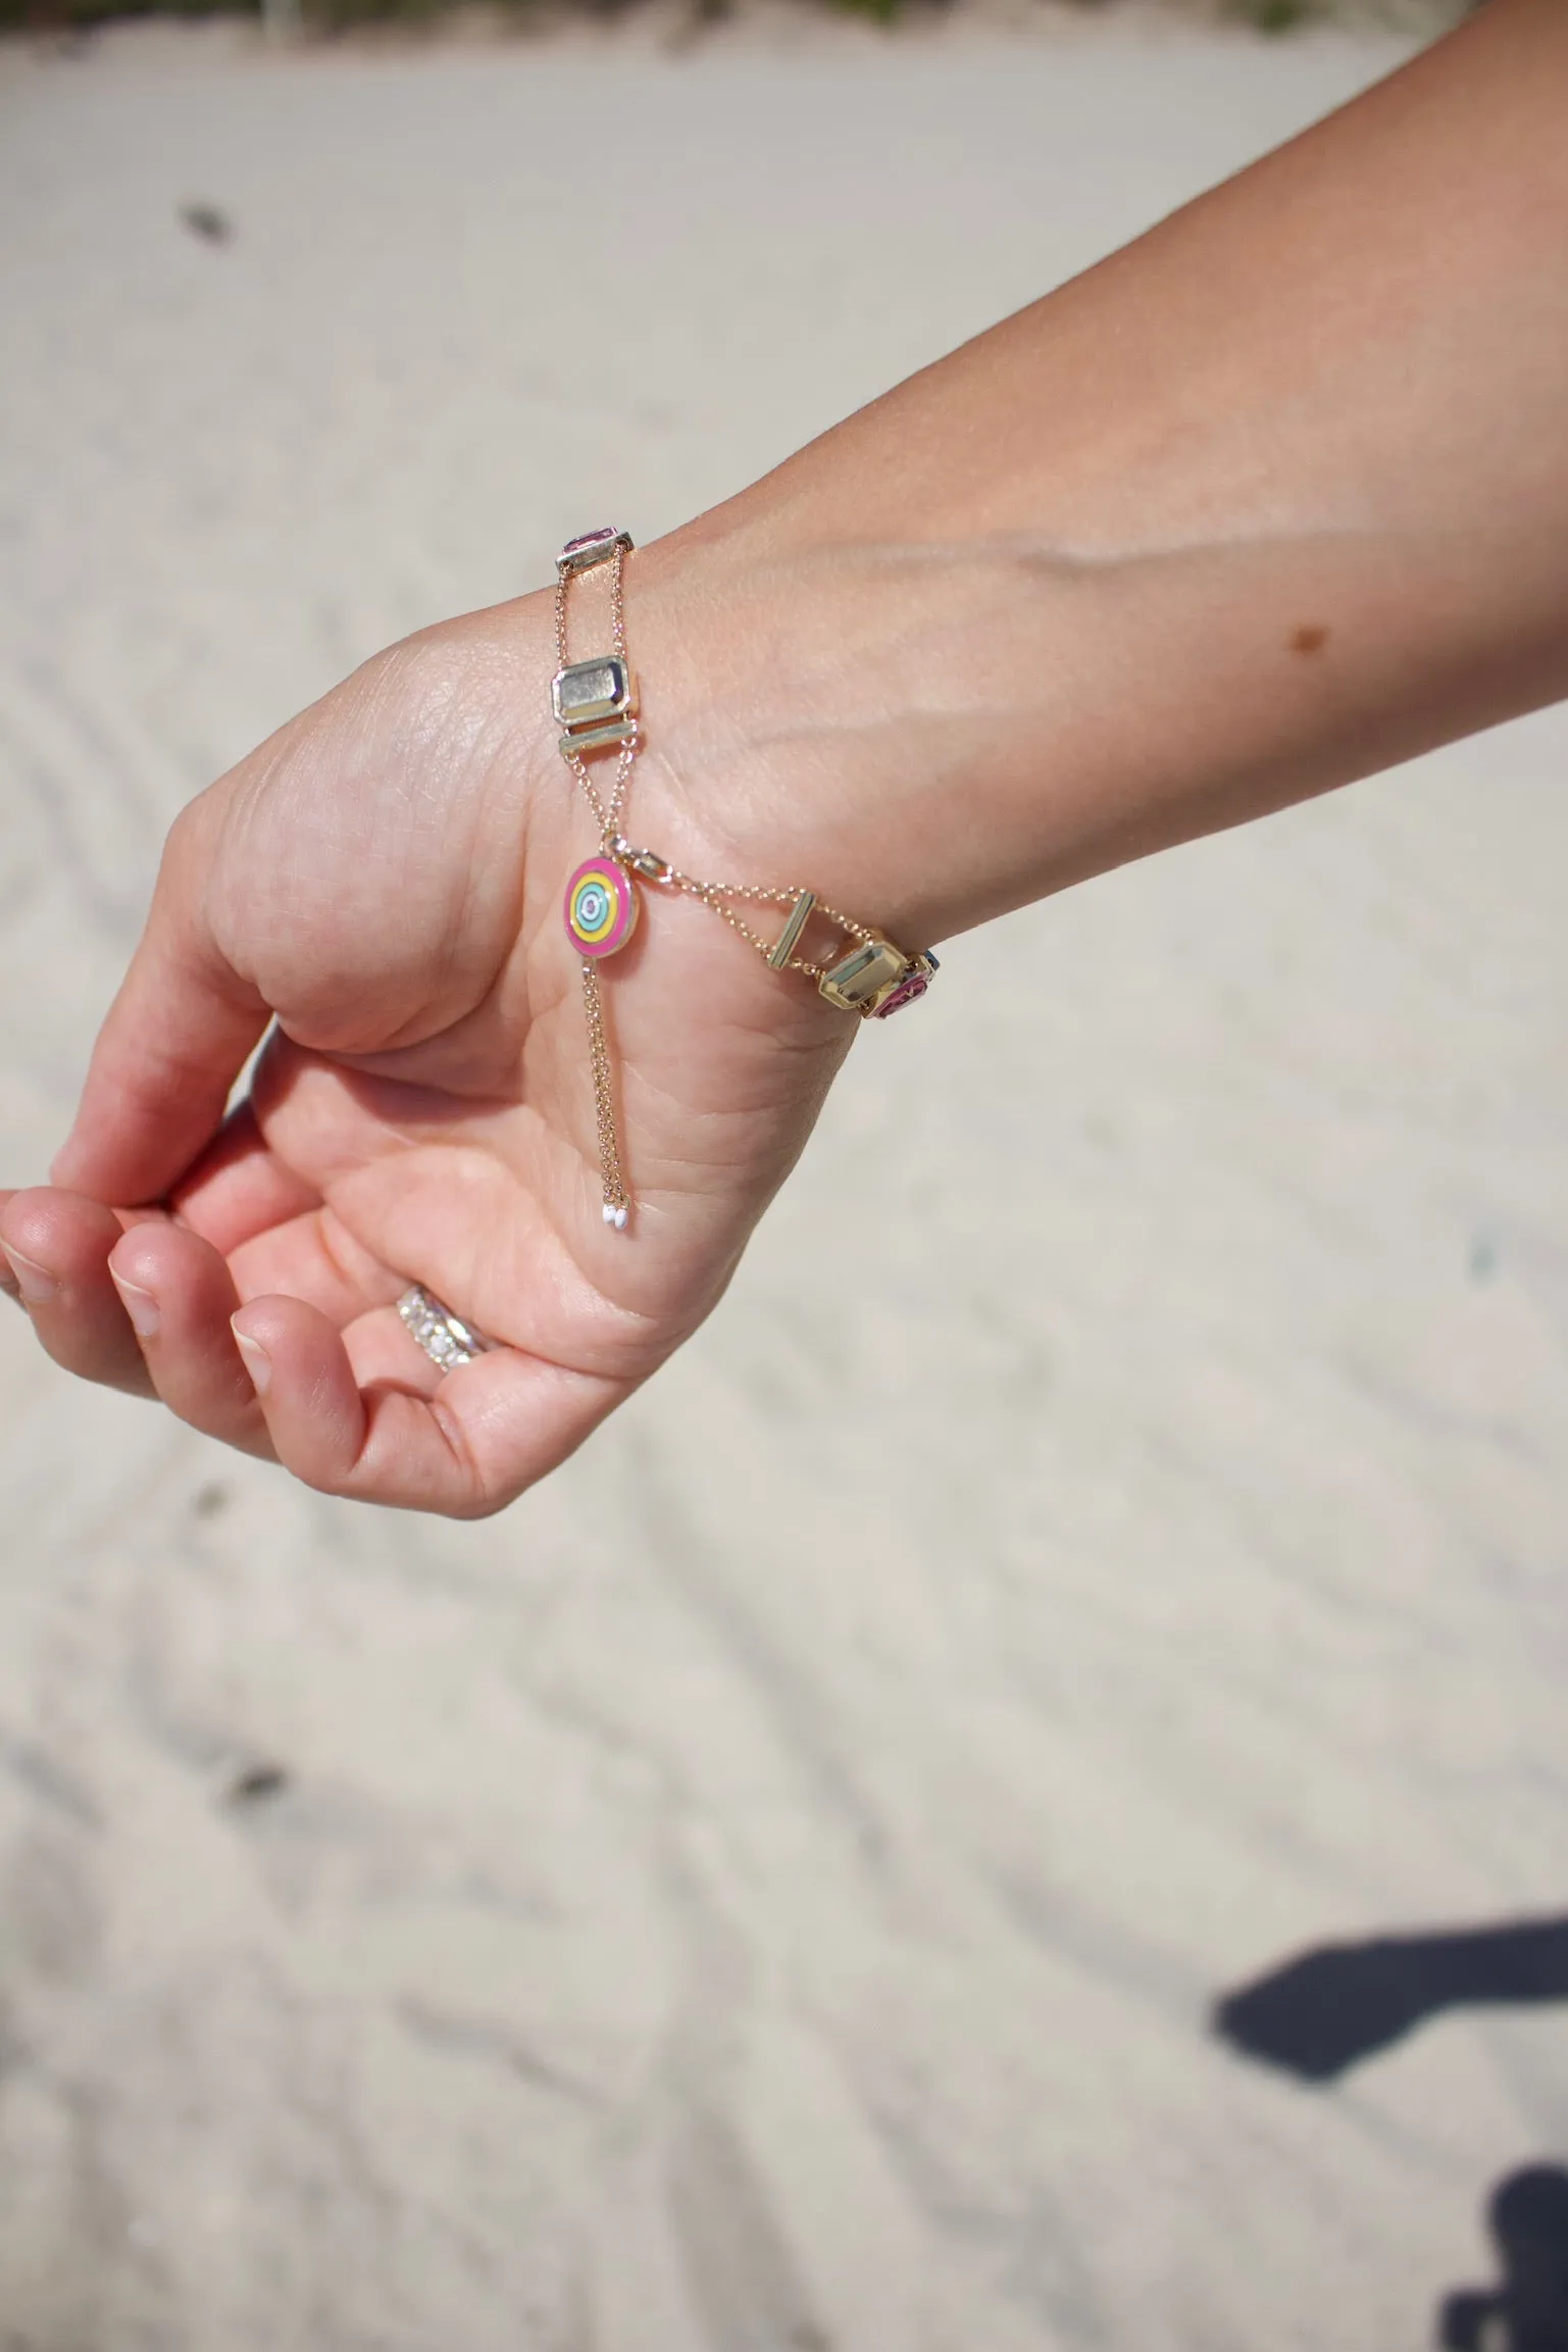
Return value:
[[(567, 938), (583, 964), (583, 1007), (588, 1014), (588, 1063), (592, 1070), (595, 1122), (599, 1131), (599, 1176), (604, 1183), (604, 1223), (625, 1232), (632, 1202), (621, 1169), (621, 1145), (616, 1138), (616, 1098), (611, 1087), (609, 1037), (604, 1030), (604, 1004), (599, 997), (599, 964), (616, 955), (632, 938), (642, 913), (639, 882), (658, 889), (679, 889), (712, 908), (773, 971), (802, 971), (816, 981), (818, 993), (839, 1011), (860, 1014), (870, 1021), (886, 1021), (924, 997), (938, 969), (936, 955), (922, 950), (907, 955), (891, 938), (870, 924), (839, 915), (809, 889), (769, 889), (757, 882), (698, 882), (679, 873), (654, 849), (637, 849), (621, 830), (632, 764), (642, 739), (637, 734), (637, 680), (625, 654), (625, 595), (623, 564), (632, 550), (630, 532), (604, 527), (569, 539), (555, 557), (555, 656), (557, 668), (550, 680), (550, 710), (559, 734), (559, 753), (576, 776), (583, 797), (599, 828), (599, 849), (585, 858), (567, 882)], [(583, 572), (609, 564), (609, 612), (611, 649), (588, 661), (567, 659), (567, 590)], [(609, 790), (602, 795), (592, 781), (588, 762), (599, 753), (614, 753), (616, 767)], [(752, 924), (736, 913), (738, 906), (785, 908), (783, 929), (776, 941), (762, 938)], [(799, 953), (811, 920), (839, 931), (844, 946), (832, 962), (813, 962)]]

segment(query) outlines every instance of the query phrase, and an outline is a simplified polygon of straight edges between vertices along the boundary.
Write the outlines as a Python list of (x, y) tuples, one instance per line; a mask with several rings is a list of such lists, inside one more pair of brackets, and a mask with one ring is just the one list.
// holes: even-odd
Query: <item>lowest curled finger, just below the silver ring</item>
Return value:
[(350, 1345), (367, 1362), (390, 1345), (383, 1317), (369, 1324), (346, 1343), (296, 1298), (252, 1298), (235, 1315), (277, 1458), (308, 1486), (362, 1503), (487, 1517), (576, 1451), (630, 1388), (498, 1348), (428, 1392), (435, 1367), (411, 1362), (421, 1350), (407, 1334), (407, 1376), (362, 1388)]

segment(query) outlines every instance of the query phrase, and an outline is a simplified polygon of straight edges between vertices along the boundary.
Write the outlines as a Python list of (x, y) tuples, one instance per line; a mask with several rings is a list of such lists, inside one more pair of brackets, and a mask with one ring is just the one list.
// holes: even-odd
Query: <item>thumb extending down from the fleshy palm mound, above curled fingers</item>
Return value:
[(216, 802), (165, 847), (141, 946), (108, 1009), (52, 1176), (94, 1200), (160, 1200), (216, 1134), (268, 1007), (207, 922)]

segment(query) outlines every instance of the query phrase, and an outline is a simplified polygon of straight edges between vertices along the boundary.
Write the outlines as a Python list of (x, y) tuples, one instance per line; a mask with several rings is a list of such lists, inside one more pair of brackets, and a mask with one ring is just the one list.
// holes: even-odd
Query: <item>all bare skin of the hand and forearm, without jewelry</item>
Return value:
[[(632, 837), (929, 946), (1568, 694), (1566, 108), (1568, 9), (1490, 0), (632, 555)], [(604, 1225), (552, 668), (548, 595), (442, 623), (202, 793), (54, 1183), (0, 1195), (56, 1362), (331, 1494), (475, 1517), (559, 1463), (856, 1030), (649, 891)], [(440, 1376), (411, 1279), (496, 1352)]]

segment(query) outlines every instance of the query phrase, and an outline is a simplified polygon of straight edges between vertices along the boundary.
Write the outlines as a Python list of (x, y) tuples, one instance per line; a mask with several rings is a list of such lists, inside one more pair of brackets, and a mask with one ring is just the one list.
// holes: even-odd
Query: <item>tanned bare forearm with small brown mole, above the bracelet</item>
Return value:
[(649, 550), (649, 731), (940, 938), (1568, 691), (1568, 9), (1345, 113)]

